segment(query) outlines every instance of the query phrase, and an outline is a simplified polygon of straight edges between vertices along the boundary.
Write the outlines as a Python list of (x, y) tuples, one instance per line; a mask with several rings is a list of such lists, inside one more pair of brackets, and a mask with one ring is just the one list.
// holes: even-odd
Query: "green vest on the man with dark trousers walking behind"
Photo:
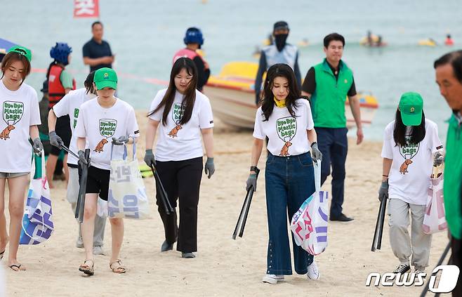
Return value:
[(353, 83), (353, 72), (340, 61), (338, 79), (326, 59), (315, 65), (316, 89), (311, 95), (315, 127), (345, 128), (345, 100)]

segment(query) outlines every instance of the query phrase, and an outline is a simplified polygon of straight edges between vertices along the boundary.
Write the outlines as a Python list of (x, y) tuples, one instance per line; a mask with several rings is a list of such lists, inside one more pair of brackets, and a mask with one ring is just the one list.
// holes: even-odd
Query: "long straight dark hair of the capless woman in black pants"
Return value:
[(159, 105), (152, 110), (147, 116), (156, 113), (162, 107), (164, 108), (164, 113), (162, 114), (162, 124), (164, 126), (167, 124), (167, 117), (173, 105), (173, 100), (175, 99), (176, 86), (175, 86), (175, 77), (180, 73), (181, 70), (186, 70), (187, 74), (192, 76), (190, 84), (187, 86), (185, 93), (183, 94), (183, 100), (181, 101), (181, 119), (179, 123), (176, 124), (186, 124), (192, 115), (192, 108), (194, 107), (194, 102), (196, 100), (196, 87), (197, 87), (197, 68), (194, 65), (194, 62), (190, 58), (179, 58), (173, 63), (170, 73), (170, 82), (167, 91), (165, 92), (164, 98), (162, 98)]

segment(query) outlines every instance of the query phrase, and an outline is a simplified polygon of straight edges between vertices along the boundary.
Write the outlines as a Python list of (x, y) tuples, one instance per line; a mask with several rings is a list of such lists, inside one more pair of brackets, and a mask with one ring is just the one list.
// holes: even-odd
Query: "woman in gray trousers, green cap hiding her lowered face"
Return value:
[[(421, 95), (404, 93), (395, 120), (385, 128), (383, 138), (383, 173), (378, 199), (390, 199), (390, 246), (400, 265), (393, 273), (411, 270), (421, 273), (428, 266), (431, 235), (423, 233), (423, 216), (428, 185), (433, 168), (433, 155), (442, 150), (438, 127), (423, 113)], [(409, 238), (409, 211), (411, 237)]]

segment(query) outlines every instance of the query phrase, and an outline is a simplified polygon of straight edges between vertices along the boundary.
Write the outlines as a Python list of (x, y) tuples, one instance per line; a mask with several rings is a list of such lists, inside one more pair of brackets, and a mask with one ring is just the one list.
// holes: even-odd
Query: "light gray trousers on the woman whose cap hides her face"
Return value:
[[(409, 210), (411, 210), (411, 237), (409, 238)], [(388, 225), (390, 246), (401, 264), (409, 264), (424, 270), (428, 266), (432, 235), (423, 233), (422, 223), (425, 205), (409, 204), (401, 199), (390, 198), (388, 202)]]

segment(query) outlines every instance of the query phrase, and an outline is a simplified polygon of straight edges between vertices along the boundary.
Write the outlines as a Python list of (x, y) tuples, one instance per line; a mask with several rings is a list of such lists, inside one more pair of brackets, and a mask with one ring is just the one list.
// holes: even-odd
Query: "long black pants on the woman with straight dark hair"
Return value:
[[(157, 190), (157, 209), (164, 223), (165, 239), (185, 253), (197, 251), (197, 204), (202, 178), (202, 157), (183, 161), (157, 161), (162, 185), (175, 210), (167, 215)], [(180, 225), (176, 223), (176, 200), (180, 204)]]

